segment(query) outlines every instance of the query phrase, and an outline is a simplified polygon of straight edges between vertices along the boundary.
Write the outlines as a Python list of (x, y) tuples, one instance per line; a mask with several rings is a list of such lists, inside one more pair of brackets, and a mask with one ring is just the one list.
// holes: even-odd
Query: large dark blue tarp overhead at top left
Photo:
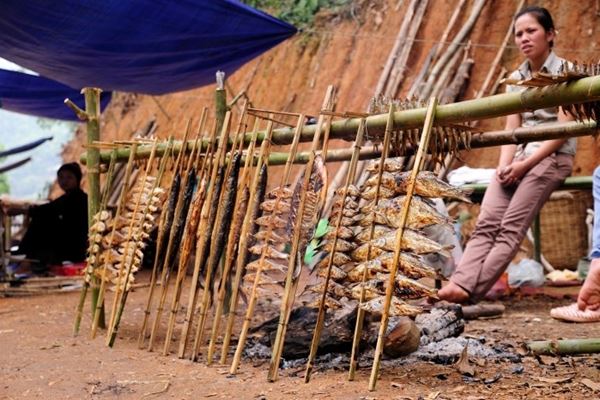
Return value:
[(213, 83), (296, 29), (234, 0), (2, 0), (0, 57), (71, 88)]

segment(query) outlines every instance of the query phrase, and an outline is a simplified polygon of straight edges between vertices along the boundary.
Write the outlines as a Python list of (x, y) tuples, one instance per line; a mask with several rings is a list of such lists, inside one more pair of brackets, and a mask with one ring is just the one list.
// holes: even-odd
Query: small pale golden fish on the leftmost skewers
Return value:
[(135, 272), (141, 267), (143, 250), (158, 222), (164, 198), (165, 192), (156, 185), (156, 178), (147, 176), (126, 194), (121, 215), (113, 217), (107, 210), (94, 215), (87, 279), (95, 274), (118, 285), (120, 290), (129, 290)]

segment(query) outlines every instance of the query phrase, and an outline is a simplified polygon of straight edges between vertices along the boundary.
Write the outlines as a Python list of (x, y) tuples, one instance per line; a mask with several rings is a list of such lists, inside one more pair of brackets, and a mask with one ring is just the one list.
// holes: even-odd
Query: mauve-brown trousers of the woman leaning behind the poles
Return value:
[(496, 176), (488, 186), (473, 236), (450, 281), (478, 301), (512, 261), (550, 194), (570, 175), (573, 156), (552, 154), (530, 169), (521, 182), (504, 187)]

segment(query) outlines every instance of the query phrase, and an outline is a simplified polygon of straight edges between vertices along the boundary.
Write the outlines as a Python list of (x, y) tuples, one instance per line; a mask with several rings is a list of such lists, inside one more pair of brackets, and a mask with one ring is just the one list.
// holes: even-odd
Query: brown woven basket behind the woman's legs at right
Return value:
[(585, 218), (592, 204), (589, 191), (557, 191), (542, 207), (542, 254), (554, 268), (574, 270), (579, 259), (587, 254)]

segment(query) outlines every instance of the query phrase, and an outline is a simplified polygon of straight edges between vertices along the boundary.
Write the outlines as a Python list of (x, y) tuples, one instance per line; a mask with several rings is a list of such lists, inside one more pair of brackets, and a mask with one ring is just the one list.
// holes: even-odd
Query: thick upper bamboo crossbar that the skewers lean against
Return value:
[[(494, 96), (483, 97), (480, 99), (466, 100), (457, 103), (451, 103), (438, 106), (436, 112), (436, 123), (440, 125), (450, 123), (462, 123), (466, 121), (475, 121), (487, 118), (501, 117), (520, 112), (537, 110), (541, 108), (565, 106), (576, 103), (584, 103), (600, 100), (600, 76), (582, 78), (570, 83), (547, 86), (545, 88), (528, 89), (522, 92), (502, 93)], [(396, 111), (394, 113), (394, 126), (398, 129), (419, 128), (425, 121), (426, 108), (416, 108), (412, 110)], [(354, 133), (358, 129), (360, 118), (349, 118), (335, 121), (331, 124), (330, 139), (352, 140)], [(387, 114), (372, 115), (366, 120), (366, 129), (370, 135), (383, 134), (387, 121)], [(301, 142), (310, 142), (315, 134), (315, 125), (307, 125), (302, 130)], [(292, 142), (294, 129), (280, 128), (273, 130), (272, 142), (275, 145), (290, 144)], [(258, 132), (258, 142), (262, 142), (265, 132)], [(249, 143), (252, 133), (247, 133), (245, 142)], [(230, 143), (231, 144), (231, 143)], [(202, 141), (202, 149), (207, 146), (206, 141)], [(496, 144), (488, 144), (495, 146)], [(182, 147), (186, 152), (191, 152), (193, 141), (182, 145), (176, 142), (174, 153), (181, 151)], [(160, 157), (165, 147), (159, 145), (156, 149), (156, 156)], [(150, 155), (150, 146), (140, 146), (136, 159), (148, 158)], [(118, 149), (117, 161), (127, 160), (129, 157), (128, 149)], [(87, 163), (87, 156), (81, 157), (83, 164)], [(100, 163), (107, 164), (110, 160), (110, 151), (100, 152)]]

